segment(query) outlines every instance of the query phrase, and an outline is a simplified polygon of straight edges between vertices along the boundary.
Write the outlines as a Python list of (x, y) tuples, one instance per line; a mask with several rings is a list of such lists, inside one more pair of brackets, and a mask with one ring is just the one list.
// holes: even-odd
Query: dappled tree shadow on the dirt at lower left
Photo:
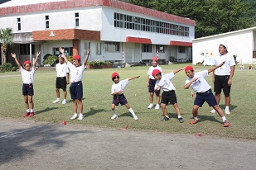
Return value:
[(77, 134), (93, 133), (90, 130), (60, 131), (55, 125), (34, 125), (0, 132), (0, 165), (22, 160), (27, 155), (40, 154), (41, 150), (50, 149), (51, 152), (64, 148), (65, 139)]

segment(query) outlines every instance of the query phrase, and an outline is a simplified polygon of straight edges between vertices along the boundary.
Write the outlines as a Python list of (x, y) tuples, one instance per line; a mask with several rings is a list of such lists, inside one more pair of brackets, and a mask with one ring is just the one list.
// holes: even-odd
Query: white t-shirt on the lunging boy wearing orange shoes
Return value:
[[(196, 82), (191, 83), (191, 88), (195, 92), (206, 92), (210, 90), (210, 85), (206, 82), (205, 78), (209, 76), (208, 70), (200, 71), (194, 74), (194, 78), (198, 78)], [(186, 83), (190, 83), (194, 78), (187, 78)]]

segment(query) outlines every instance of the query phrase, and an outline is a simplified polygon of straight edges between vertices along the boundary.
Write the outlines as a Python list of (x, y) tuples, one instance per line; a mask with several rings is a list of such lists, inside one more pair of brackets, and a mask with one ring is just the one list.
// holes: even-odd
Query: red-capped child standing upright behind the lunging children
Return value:
[(155, 106), (155, 109), (160, 109), (160, 89), (155, 92), (154, 87), (156, 84), (156, 79), (152, 76), (152, 71), (154, 69), (159, 69), (162, 72), (162, 68), (158, 65), (158, 59), (157, 57), (152, 58), (152, 66), (148, 68), (147, 71), (147, 87), (148, 87), (148, 92), (149, 92), (149, 105), (147, 106), (147, 109), (152, 109), (153, 108), (153, 97), (154, 93), (156, 94), (156, 102), (157, 105)]

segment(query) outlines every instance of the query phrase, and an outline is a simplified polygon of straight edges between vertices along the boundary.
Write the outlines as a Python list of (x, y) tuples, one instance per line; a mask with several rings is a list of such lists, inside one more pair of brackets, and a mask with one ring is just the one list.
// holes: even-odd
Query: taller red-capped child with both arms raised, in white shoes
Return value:
[[(79, 55), (73, 56), (73, 64), (71, 64), (68, 59), (65, 57), (64, 49), (59, 48), (60, 53), (62, 54), (63, 58), (65, 59), (65, 63), (67, 64), (67, 67), (70, 68), (70, 96), (73, 99), (73, 110), (74, 110), (74, 116), (72, 116), (70, 119), (75, 120), (82, 120), (84, 119), (83, 115), (83, 73), (85, 71), (85, 66), (87, 63), (87, 60), (89, 58), (89, 51), (87, 51), (87, 55), (85, 58), (85, 62), (83, 64), (80, 63), (81, 58)], [(77, 107), (80, 109), (80, 115), (77, 114)]]

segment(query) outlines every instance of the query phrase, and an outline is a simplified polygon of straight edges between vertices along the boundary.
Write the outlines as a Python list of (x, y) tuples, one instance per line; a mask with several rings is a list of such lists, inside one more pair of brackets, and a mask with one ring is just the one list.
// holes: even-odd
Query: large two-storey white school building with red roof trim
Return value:
[[(12, 28), (22, 62), (37, 51), (122, 63), (192, 60), (196, 21), (118, 0), (12, 0), (0, 4), (0, 28)], [(10, 57), (8, 58), (10, 59)], [(39, 63), (42, 64), (41, 57)]]

